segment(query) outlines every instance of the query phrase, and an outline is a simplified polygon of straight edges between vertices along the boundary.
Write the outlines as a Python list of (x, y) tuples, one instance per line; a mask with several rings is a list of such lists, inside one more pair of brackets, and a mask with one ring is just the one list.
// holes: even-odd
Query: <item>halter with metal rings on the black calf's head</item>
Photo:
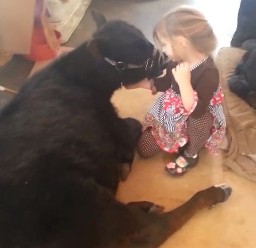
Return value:
[(135, 65), (135, 64), (125, 64), (122, 61), (114, 61), (112, 59), (109, 59), (107, 57), (104, 57), (104, 59), (111, 64), (112, 66), (116, 67), (116, 70), (121, 72), (126, 69), (137, 69), (137, 68), (145, 68), (145, 71), (149, 71), (153, 65), (154, 65), (154, 57), (156, 56), (157, 50), (154, 48), (152, 53), (152, 58), (148, 58), (143, 64)]

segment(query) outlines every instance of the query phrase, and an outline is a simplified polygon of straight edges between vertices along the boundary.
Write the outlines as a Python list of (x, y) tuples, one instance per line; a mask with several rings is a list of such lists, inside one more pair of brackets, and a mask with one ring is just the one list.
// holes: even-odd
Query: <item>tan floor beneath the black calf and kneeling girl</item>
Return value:
[[(62, 47), (62, 52), (70, 48)], [(50, 61), (36, 63), (32, 73)], [(120, 116), (142, 120), (155, 101), (147, 90), (118, 90), (112, 99)], [(126, 182), (120, 184), (117, 198), (122, 202), (147, 200), (171, 210), (197, 191), (213, 184), (227, 183), (233, 194), (226, 203), (204, 210), (171, 236), (161, 248), (255, 248), (256, 183), (223, 171), (222, 156), (200, 154), (199, 165), (183, 177), (173, 178), (164, 171), (171, 155), (159, 153), (143, 160), (136, 157)]]

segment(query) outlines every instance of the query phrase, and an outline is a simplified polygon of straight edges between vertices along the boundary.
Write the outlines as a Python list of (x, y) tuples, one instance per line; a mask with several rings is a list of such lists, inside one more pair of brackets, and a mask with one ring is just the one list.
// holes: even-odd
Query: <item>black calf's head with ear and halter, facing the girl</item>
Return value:
[(166, 67), (166, 56), (154, 48), (143, 33), (126, 21), (107, 21), (92, 12), (97, 31), (88, 47), (102, 61), (98, 73), (104, 73), (113, 87), (131, 85), (143, 78), (155, 78)]

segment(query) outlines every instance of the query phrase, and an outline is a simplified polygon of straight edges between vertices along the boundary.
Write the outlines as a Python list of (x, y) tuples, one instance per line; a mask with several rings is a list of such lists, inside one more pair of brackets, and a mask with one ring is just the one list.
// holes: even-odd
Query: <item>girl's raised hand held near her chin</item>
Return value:
[(180, 85), (189, 83), (191, 80), (190, 68), (187, 63), (180, 63), (176, 68), (172, 69), (173, 77), (175, 81)]

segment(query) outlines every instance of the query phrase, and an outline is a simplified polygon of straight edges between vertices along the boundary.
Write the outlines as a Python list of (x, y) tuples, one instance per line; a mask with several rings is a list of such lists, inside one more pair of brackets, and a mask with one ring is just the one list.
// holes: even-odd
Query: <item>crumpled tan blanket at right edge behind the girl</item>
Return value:
[(256, 113), (230, 92), (227, 85), (244, 52), (225, 47), (220, 49), (215, 61), (225, 94), (223, 107), (227, 120), (228, 153), (224, 163), (237, 174), (256, 182)]

